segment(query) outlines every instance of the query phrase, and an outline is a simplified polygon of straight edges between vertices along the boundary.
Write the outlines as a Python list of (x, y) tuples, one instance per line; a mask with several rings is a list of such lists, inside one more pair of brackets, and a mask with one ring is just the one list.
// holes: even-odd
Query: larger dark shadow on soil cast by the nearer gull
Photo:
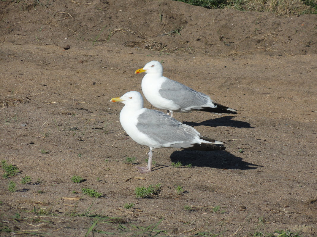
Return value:
[(171, 156), (172, 162), (181, 161), (182, 165), (191, 164), (196, 167), (211, 167), (217, 169), (256, 169), (262, 167), (243, 161), (241, 157), (230, 154), (227, 151), (197, 151), (180, 150), (174, 151)]

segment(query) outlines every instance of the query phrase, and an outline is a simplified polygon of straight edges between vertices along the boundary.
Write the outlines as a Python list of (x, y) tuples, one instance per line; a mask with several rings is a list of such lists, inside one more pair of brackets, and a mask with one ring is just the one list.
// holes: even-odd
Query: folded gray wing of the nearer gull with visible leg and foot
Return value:
[(139, 131), (157, 141), (162, 147), (188, 148), (195, 143), (198, 132), (188, 125), (157, 110), (146, 110), (138, 116)]

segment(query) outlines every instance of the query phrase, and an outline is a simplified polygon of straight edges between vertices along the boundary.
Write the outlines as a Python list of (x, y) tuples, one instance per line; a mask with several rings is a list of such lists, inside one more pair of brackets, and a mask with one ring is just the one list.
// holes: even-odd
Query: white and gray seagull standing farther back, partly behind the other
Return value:
[(237, 110), (215, 103), (204, 93), (193, 90), (182, 83), (173, 81), (163, 76), (162, 64), (151, 61), (143, 68), (134, 72), (139, 74), (145, 72), (141, 87), (145, 98), (155, 107), (167, 110), (167, 114), (173, 112), (189, 112), (200, 110), (215, 113), (233, 113)]

